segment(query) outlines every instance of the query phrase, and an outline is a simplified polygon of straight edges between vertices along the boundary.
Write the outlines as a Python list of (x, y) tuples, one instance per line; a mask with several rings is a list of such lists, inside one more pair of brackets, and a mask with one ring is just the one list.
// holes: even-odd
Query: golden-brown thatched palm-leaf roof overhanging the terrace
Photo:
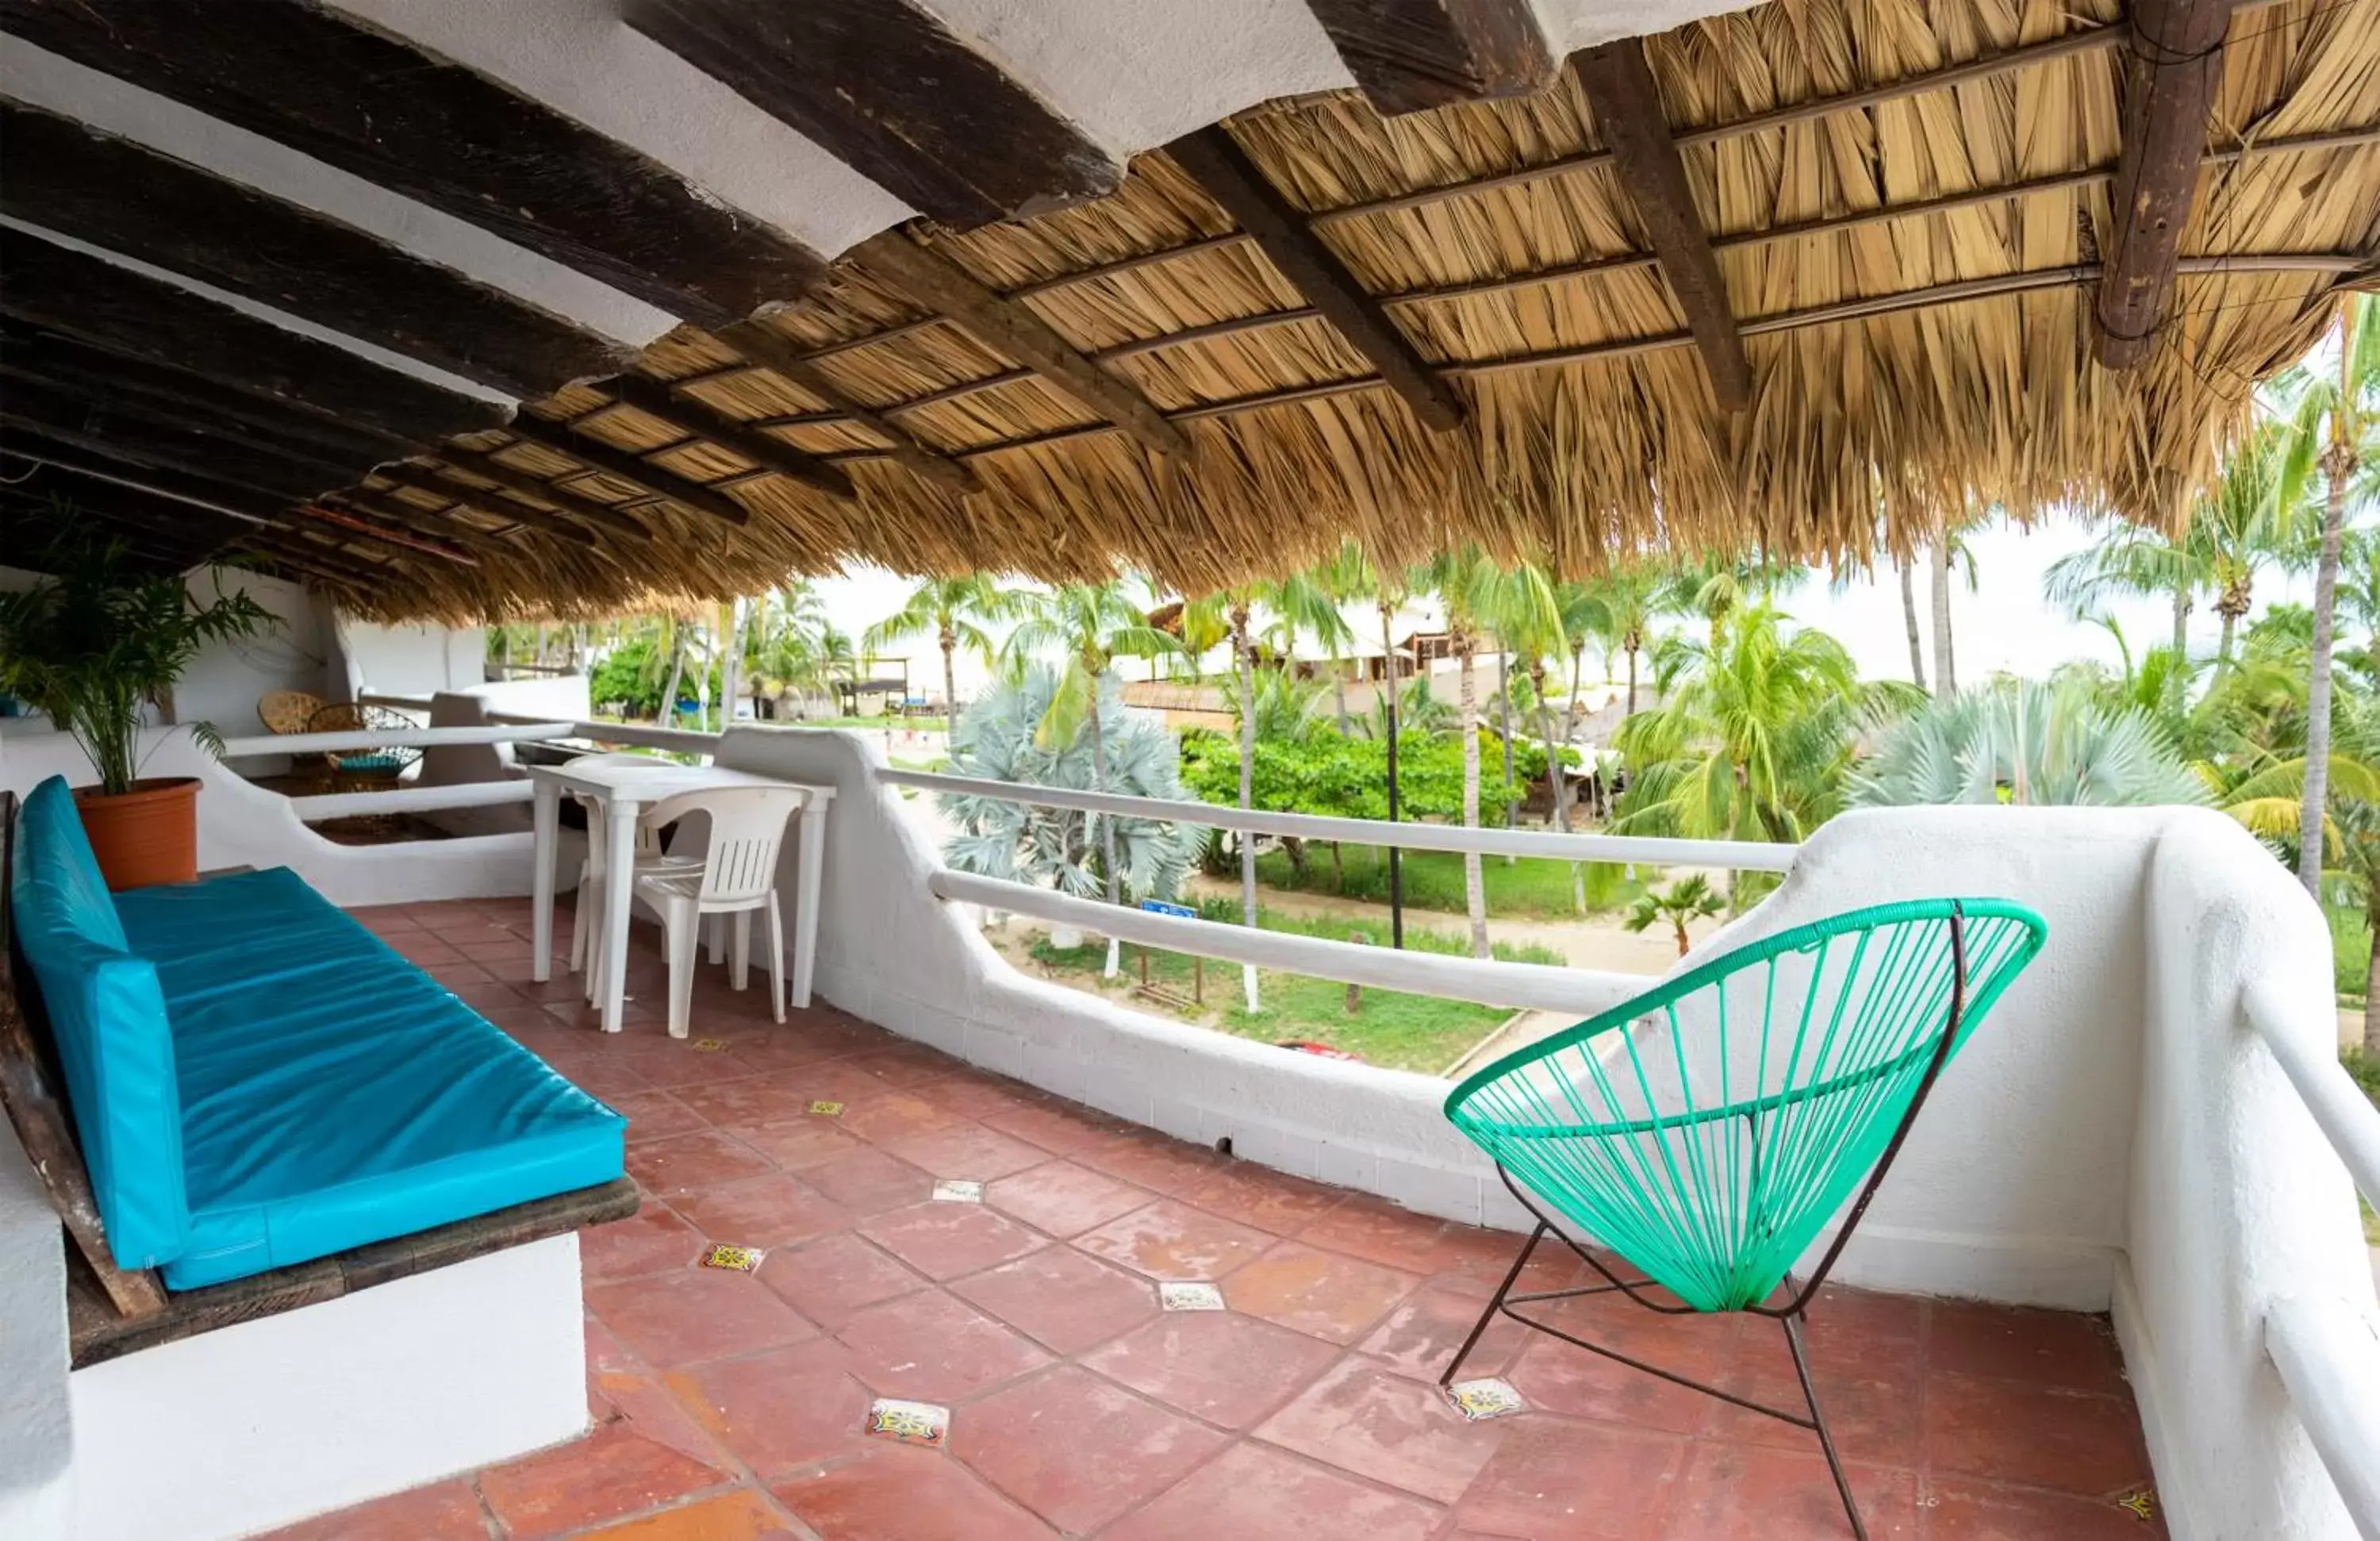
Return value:
[[(1573, 62), (1518, 100), (1383, 119), (1328, 93), (1226, 124), (1452, 393), (1452, 429), (1152, 150), (1095, 202), (964, 233), (919, 224), (890, 236), (900, 252), (866, 243), (812, 293), (724, 326), (733, 341), (681, 326), (638, 360), (676, 388), (666, 417), (595, 381), (526, 407), (545, 443), (457, 438), (476, 462), (407, 472), (469, 498), (440, 529), (476, 564), (400, 557), (331, 581), (378, 617), (595, 614), (854, 560), (1133, 567), (1200, 591), (1342, 536), (1376, 560), (1478, 538), (1576, 574), (1754, 543), (1856, 560), (1973, 500), (2171, 526), (2251, 386), (2380, 262), (2380, 0), (2232, 17), (2166, 319), (2142, 364), (2106, 369), (2092, 307), (2118, 224), (2128, 38), (2113, 0), (1773, 0), (1647, 38), (1749, 362), (1737, 412)], [(1031, 367), (1031, 338), (921, 300), (885, 264), (916, 245), (1161, 422), (1130, 403), (1102, 414)], [(719, 443), (738, 433), (804, 453), (800, 474)], [(1176, 433), (1185, 445), (1152, 448)], [(607, 448), (612, 464), (590, 467)], [(647, 455), (640, 483), (588, 474), (635, 476), (626, 457)], [(574, 498), (509, 531), (524, 476)], [(843, 479), (850, 495), (831, 491)], [(688, 483), (724, 507), (654, 495)], [(347, 503), (416, 517), (445, 500), (371, 479)], [(588, 505), (626, 519), (595, 524)]]

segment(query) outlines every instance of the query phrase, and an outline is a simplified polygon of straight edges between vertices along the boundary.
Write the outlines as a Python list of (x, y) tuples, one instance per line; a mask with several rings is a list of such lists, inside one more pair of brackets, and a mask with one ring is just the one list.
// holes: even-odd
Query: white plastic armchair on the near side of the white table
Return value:
[(712, 841), (700, 872), (638, 872), (635, 896), (662, 915), (669, 953), (669, 1036), (683, 1038), (695, 1005), (695, 943), (704, 915), (735, 917), (728, 981), (740, 991), (752, 974), (752, 912), (769, 912), (769, 1015), (785, 1019), (785, 919), (776, 903), (776, 857), (785, 824), (804, 800), (795, 786), (714, 786), (652, 805), (654, 826), (709, 815)]

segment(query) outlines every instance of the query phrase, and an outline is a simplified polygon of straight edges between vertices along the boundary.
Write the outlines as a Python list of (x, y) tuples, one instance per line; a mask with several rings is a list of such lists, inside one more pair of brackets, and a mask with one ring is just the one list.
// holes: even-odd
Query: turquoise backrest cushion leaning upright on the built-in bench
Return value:
[(24, 800), (12, 907), (67, 1072), (107, 1250), (119, 1267), (178, 1258), (190, 1217), (174, 1034), (157, 969), (124, 948), (124, 927), (62, 776)]

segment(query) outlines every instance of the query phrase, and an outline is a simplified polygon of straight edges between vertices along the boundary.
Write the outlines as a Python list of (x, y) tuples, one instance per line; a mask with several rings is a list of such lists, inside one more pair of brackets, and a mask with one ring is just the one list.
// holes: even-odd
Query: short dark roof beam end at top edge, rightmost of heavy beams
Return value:
[(1385, 117), (1528, 95), (1559, 62), (1528, 0), (1307, 0)]

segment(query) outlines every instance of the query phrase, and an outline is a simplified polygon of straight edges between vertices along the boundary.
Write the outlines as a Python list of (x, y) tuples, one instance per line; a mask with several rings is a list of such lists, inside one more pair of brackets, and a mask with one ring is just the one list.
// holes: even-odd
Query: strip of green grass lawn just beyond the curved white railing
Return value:
[[(1240, 919), (1240, 907), (1230, 900), (1207, 900), (1200, 905), (1200, 912), (1207, 919), (1226, 924), (1235, 924)], [(1273, 910), (1259, 910), (1257, 922), (1266, 931), (1292, 931), (1297, 936), (1323, 936), (1328, 941), (1352, 941), (1357, 931), (1371, 934), (1378, 929), (1368, 919), (1292, 917), (1276, 915)], [(1371, 936), (1371, 941), (1388, 946), (1385, 936)], [(1407, 927), (1404, 946), (1414, 953), (1445, 955), (1468, 955), (1471, 950), (1468, 938), (1457, 931), (1430, 931), (1421, 927)], [(1307, 979), (1304, 974), (1283, 974), (1276, 969), (1257, 969), (1257, 998), (1264, 1010), (1250, 1015), (1240, 996), (1240, 967), (1216, 962), (1211, 957), (1204, 965), (1204, 1005), (1176, 1010), (1161, 1000), (1130, 996), (1130, 991), (1140, 984), (1140, 962), (1145, 955), (1150, 981), (1166, 986), (1188, 1000), (1195, 965), (1185, 953), (1161, 953), (1126, 943), (1123, 969), (1111, 986), (1100, 981), (1100, 969), (1107, 965), (1104, 941), (1088, 941), (1081, 948), (1052, 948), (1047, 936), (1042, 936), (1033, 943), (1031, 955), (1033, 962), (1069, 984), (1111, 991), (1138, 1010), (1180, 1017), (1185, 1022), (1202, 1022), (1242, 1038), (1259, 1038), (1264, 1043), (1278, 1043), (1285, 1038), (1328, 1043), (1330, 1048), (1345, 1048), (1371, 1065), (1418, 1069), (1426, 1074), (1438, 1074), (1461, 1058), (1466, 1048), (1492, 1034), (1507, 1017), (1511, 1017), (1509, 1010), (1497, 1005), (1473, 1005), (1468, 1000), (1440, 1000), (1435, 996), (1402, 996), (1395, 991), (1371, 988), (1361, 991), (1357, 1010), (1349, 1012), (1345, 984), (1330, 979)], [(1552, 948), (1537, 946), (1511, 948), (1497, 943), (1495, 955), (1507, 962), (1561, 962)]]

